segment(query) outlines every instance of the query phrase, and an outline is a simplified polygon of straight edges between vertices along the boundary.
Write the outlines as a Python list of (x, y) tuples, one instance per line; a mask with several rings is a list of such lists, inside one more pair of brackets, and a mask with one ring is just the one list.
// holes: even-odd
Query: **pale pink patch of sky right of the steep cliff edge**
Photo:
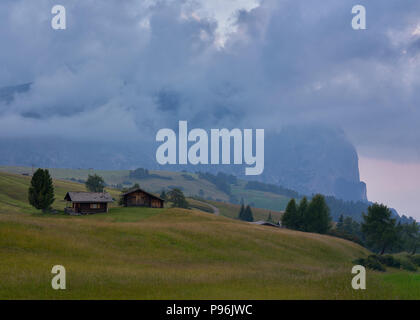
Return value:
[(368, 199), (420, 220), (420, 163), (396, 163), (359, 158), (360, 179), (367, 184)]

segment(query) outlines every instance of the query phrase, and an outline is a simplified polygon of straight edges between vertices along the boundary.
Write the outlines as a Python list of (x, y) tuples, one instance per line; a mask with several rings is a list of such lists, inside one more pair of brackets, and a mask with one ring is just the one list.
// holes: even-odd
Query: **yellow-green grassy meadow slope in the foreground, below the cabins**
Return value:
[[(0, 173), (0, 299), (420, 299), (420, 274), (399, 270), (368, 270), (367, 290), (353, 290), (351, 261), (368, 251), (349, 241), (198, 210), (42, 214), (29, 179)], [(84, 189), (54, 183), (57, 210)], [(53, 265), (66, 290), (51, 288)]]

